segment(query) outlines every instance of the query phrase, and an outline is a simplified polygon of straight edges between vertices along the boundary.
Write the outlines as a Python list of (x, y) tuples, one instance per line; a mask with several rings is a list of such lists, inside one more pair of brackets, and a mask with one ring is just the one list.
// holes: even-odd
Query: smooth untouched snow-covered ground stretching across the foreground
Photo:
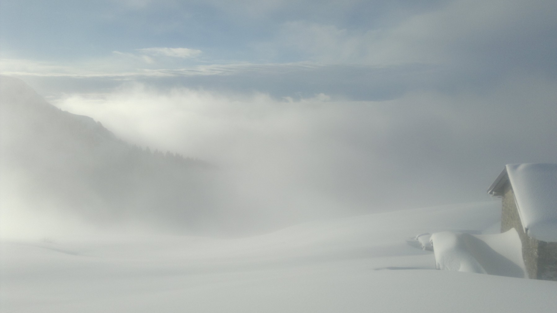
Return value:
[(500, 203), (316, 221), (216, 239), (1, 244), (1, 312), (551, 312), (557, 283), (438, 271), (412, 238), (498, 231)]

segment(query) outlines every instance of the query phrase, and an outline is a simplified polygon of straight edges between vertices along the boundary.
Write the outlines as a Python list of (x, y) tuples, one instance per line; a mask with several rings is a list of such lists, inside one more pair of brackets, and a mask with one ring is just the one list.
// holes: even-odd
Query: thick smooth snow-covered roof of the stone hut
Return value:
[(510, 182), (528, 236), (557, 242), (557, 164), (507, 164), (488, 193), (500, 195)]

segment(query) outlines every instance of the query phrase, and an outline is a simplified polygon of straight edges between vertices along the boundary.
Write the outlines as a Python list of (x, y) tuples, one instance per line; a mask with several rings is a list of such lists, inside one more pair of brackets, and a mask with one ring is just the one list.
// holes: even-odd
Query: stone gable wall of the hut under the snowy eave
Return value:
[(516, 208), (515, 194), (512, 192), (510, 184), (507, 184), (502, 198), (501, 232), (506, 232), (513, 227), (519, 233), (520, 241), (522, 241), (522, 258), (524, 258), (528, 277), (538, 278), (539, 241), (528, 237), (524, 233), (519, 212)]

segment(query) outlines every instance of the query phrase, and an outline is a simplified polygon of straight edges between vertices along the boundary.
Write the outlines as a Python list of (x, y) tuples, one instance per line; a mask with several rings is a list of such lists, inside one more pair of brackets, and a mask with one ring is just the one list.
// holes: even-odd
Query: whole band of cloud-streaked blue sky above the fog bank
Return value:
[[(387, 77), (382, 84), (389, 90), (451, 90), (495, 84), (517, 72), (551, 78), (557, 72), (552, 1), (0, 3), (0, 69), (8, 74), (129, 78), (183, 70), (167, 75), (199, 76), (184, 71), (190, 69), (223, 76), (227, 65), (232, 76), (275, 77), (281, 70), (305, 75), (312, 66), (310, 76), (319, 82), (297, 82), (299, 90), (256, 86), (285, 96), (280, 93), (314, 92), (315, 84), (325, 92), (346, 76), (363, 85)], [(216, 65), (220, 71), (213, 71)], [(380, 90), (335, 92), (385, 97)]]

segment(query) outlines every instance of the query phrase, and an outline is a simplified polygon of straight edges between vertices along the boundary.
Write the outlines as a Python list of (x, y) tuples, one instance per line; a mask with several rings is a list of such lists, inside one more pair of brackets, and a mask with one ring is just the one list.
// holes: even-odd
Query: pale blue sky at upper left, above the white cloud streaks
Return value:
[[(145, 47), (189, 47), (238, 61), (269, 58), (253, 45), (285, 24), (369, 31), (393, 25), (434, 2), (347, 1), (3, 1), (2, 43), (23, 57), (60, 60)], [(277, 51), (282, 55), (282, 52)]]

